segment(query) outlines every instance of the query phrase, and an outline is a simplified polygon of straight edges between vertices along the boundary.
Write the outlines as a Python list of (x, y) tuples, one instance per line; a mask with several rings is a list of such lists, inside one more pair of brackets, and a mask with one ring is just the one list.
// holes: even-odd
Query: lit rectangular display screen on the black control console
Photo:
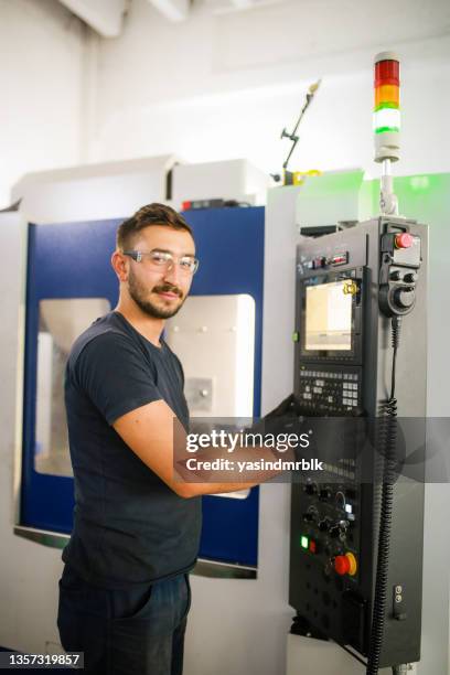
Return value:
[(345, 288), (351, 279), (307, 287), (306, 351), (350, 351), (352, 349), (352, 294)]

